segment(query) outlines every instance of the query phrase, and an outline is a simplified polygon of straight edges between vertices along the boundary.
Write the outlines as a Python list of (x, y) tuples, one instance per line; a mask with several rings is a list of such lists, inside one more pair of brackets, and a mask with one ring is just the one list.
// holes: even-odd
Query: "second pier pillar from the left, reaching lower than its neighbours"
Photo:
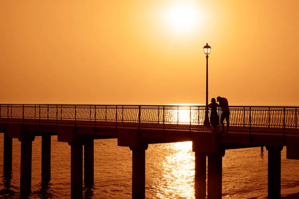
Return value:
[(29, 196), (31, 191), (32, 141), (34, 139), (34, 136), (19, 139), (21, 142), (20, 193), (25, 197)]

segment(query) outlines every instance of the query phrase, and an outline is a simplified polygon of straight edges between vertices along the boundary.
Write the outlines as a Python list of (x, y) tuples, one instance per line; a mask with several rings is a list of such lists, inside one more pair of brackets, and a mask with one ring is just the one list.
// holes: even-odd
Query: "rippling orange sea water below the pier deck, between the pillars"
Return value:
[[(267, 194), (268, 151), (261, 147), (226, 150), (223, 157), (223, 199)], [(51, 180), (41, 182), (41, 137), (32, 142), (30, 199), (70, 198), (70, 146), (51, 138)], [(12, 175), (1, 177), (0, 197), (19, 198), (20, 142), (13, 139)], [(94, 141), (94, 187), (84, 187), (85, 199), (132, 198), (132, 151), (117, 139)], [(0, 173), (3, 174), (3, 134), (0, 134)], [(282, 150), (282, 189), (299, 185), (299, 161)], [(147, 199), (194, 199), (192, 142), (150, 144), (146, 151)]]

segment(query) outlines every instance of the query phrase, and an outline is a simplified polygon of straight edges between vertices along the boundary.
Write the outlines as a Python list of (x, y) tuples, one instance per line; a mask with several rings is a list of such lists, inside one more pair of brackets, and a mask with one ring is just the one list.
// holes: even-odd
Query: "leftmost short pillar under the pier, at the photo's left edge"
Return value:
[(8, 132), (4, 132), (3, 153), (3, 171), (10, 173), (12, 170), (12, 138), (8, 137)]

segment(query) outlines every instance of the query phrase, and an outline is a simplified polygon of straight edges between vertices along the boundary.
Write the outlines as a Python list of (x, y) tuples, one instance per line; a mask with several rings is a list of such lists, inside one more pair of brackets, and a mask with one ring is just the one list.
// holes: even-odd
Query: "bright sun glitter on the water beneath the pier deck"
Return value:
[(192, 142), (169, 143), (163, 146), (168, 155), (163, 160), (162, 179), (157, 183), (159, 199), (194, 199), (194, 153)]

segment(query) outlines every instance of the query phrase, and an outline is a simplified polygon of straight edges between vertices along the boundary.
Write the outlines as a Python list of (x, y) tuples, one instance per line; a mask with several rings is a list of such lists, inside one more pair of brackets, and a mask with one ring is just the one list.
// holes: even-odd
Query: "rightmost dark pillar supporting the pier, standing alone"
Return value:
[(280, 199), (283, 146), (266, 146), (266, 149), (268, 150), (268, 199)]

